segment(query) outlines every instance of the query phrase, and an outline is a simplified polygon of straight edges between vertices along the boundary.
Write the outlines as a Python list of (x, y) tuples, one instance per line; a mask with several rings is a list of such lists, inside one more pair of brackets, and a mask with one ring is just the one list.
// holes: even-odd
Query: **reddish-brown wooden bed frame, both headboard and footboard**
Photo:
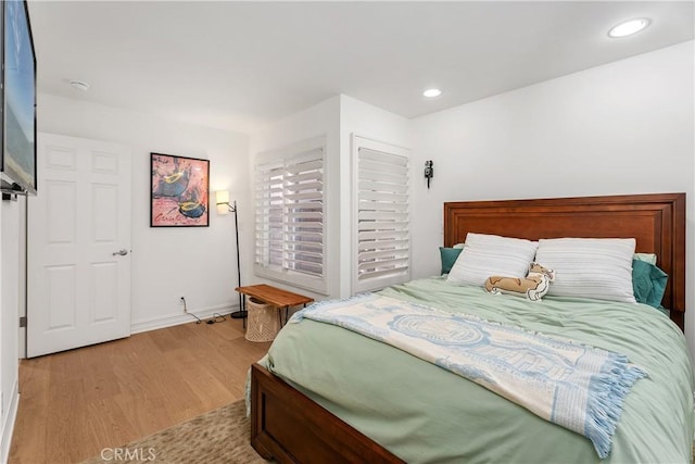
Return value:
[[(683, 329), (685, 193), (444, 203), (444, 246), (468, 231), (507, 237), (636, 239), (669, 275), (662, 304)], [(252, 366), (251, 444), (279, 463), (397, 463), (399, 457), (274, 376)]]

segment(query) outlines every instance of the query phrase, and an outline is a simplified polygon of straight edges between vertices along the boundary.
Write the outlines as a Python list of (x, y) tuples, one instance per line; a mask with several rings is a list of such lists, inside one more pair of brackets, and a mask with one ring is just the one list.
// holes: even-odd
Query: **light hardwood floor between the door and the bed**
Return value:
[(23, 360), (9, 462), (76, 463), (241, 399), (269, 346), (227, 317)]

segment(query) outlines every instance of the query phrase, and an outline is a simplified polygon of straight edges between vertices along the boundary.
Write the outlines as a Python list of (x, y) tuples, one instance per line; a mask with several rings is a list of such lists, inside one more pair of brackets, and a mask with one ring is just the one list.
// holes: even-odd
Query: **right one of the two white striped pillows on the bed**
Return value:
[(634, 303), (633, 238), (539, 240), (535, 261), (555, 271), (547, 294)]

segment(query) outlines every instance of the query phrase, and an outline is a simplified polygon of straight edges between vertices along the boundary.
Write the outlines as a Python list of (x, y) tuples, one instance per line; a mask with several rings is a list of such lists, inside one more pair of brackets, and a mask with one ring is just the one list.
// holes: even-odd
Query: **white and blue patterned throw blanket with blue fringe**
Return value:
[(610, 452), (622, 402), (646, 374), (624, 355), (376, 293), (298, 312), (389, 343), (587, 437)]

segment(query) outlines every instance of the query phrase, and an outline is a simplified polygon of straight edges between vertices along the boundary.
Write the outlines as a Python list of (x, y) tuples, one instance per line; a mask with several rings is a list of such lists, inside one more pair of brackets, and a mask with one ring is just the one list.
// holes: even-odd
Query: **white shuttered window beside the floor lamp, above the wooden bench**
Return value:
[(255, 165), (257, 275), (326, 292), (324, 141)]

